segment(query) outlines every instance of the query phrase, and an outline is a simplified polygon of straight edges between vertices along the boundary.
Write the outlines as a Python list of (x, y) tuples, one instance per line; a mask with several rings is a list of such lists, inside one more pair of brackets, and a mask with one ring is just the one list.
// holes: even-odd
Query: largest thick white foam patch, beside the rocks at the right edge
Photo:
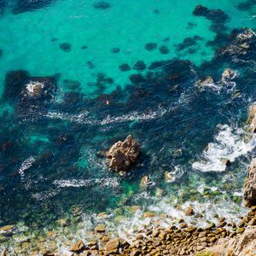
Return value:
[(246, 143), (242, 137), (246, 135), (244, 130), (233, 129), (229, 125), (218, 125), (219, 132), (214, 138), (214, 143), (209, 143), (203, 151), (202, 160), (193, 163), (192, 167), (201, 172), (224, 172), (226, 164), (224, 160), (233, 162), (241, 155), (252, 151), (256, 145), (256, 137)]

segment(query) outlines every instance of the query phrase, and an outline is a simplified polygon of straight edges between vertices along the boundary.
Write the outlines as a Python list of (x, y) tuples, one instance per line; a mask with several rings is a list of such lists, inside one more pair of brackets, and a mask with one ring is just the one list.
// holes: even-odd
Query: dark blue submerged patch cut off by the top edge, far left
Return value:
[(18, 15), (20, 13), (35, 11), (44, 8), (55, 0), (17, 0), (13, 9), (13, 13)]

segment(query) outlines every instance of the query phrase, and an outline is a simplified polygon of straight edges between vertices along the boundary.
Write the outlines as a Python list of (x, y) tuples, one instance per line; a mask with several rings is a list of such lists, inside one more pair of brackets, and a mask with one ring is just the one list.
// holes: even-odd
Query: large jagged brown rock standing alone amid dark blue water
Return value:
[(129, 171), (137, 160), (140, 148), (140, 144), (131, 135), (124, 142), (114, 143), (107, 153), (109, 168), (116, 172)]

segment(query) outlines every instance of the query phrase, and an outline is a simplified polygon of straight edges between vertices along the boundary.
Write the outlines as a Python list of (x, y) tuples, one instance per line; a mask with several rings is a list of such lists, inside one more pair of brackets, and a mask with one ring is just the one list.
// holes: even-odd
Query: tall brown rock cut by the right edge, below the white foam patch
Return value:
[(243, 190), (243, 200), (247, 207), (256, 206), (256, 158), (248, 167), (247, 178)]

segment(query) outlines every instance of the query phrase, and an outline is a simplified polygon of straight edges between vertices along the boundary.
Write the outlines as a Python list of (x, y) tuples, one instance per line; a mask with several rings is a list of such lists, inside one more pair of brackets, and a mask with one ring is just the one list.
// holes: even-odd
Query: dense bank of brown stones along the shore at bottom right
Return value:
[[(194, 215), (193, 208), (185, 211), (186, 215)], [(106, 226), (99, 224), (94, 232), (97, 240), (84, 244), (77, 241), (70, 247), (73, 255), (195, 255), (215, 245), (219, 239), (241, 235), (248, 225), (256, 225), (256, 207), (251, 207), (247, 216), (241, 221), (227, 223), (225, 218), (218, 218), (218, 224), (210, 224), (207, 228), (188, 225), (183, 219), (168, 229), (148, 228), (137, 232), (135, 241), (125, 241), (119, 237), (110, 239)], [(47, 254), (49, 255), (49, 254)], [(56, 255), (56, 254), (52, 254)]]

